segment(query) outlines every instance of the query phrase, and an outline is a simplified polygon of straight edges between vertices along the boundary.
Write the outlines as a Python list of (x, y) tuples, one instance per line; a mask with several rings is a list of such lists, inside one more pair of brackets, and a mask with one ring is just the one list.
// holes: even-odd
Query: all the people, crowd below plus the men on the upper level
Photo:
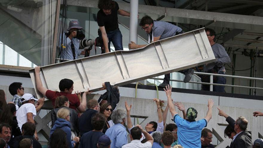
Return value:
[[(123, 50), (122, 34), (118, 28), (117, 14), (129, 16), (130, 14), (119, 9), (117, 2), (112, 0), (99, 0), (97, 22), (100, 28), (100, 38), (104, 45), (104, 52), (110, 52), (110, 42), (115, 50)], [(149, 43), (175, 36), (184, 31), (176, 25), (154, 21), (144, 16), (139, 24), (149, 36)], [(70, 60), (77, 59), (79, 53), (77, 31), (82, 29), (78, 21), (71, 21), (68, 28), (68, 44), (62, 54), (69, 54)], [(225, 49), (215, 43), (215, 31), (205, 29), (207, 38), (214, 52), (216, 61), (205, 65), (204, 71), (225, 74), (224, 64), (230, 62)], [(129, 44), (130, 49), (141, 48), (146, 45)], [(180, 71), (185, 74), (184, 82), (189, 82), (194, 70), (192, 68)], [(172, 88), (169, 86), (170, 74), (166, 74), (163, 87), (167, 96), (167, 106), (161, 110), (160, 100), (154, 98), (157, 109), (157, 121), (151, 121), (143, 128), (133, 125), (131, 119), (132, 104), (125, 102), (125, 106), (117, 106), (120, 95), (118, 89), (109, 83), (103, 88), (112, 91), (106, 93), (99, 100), (90, 99), (87, 102), (87, 89), (82, 94), (75, 93), (74, 82), (62, 79), (59, 82), (60, 91), (52, 91), (42, 85), (40, 67), (35, 68), (36, 89), (43, 96), (52, 101), (51, 130), (49, 135), (49, 148), (213, 148), (211, 144), (213, 132), (205, 128), (212, 118), (214, 102), (208, 100), (208, 111), (204, 118), (196, 120), (198, 112), (195, 108), (185, 109), (180, 102), (172, 99)], [(202, 78), (206, 81), (206, 78)], [(225, 84), (225, 77), (217, 77), (214, 83)], [(209, 89), (203, 86), (203, 90)], [(224, 92), (224, 86), (214, 86), (214, 91)], [(9, 86), (13, 96), (7, 103), (6, 95), (0, 90), (0, 148), (40, 148), (39, 138), (34, 118), (44, 105), (44, 98), (37, 99), (34, 95), (25, 93), (22, 83), (14, 82)], [(114, 94), (115, 93), (115, 94)], [(117, 108), (116, 108), (117, 107)], [(178, 115), (175, 107), (182, 113)], [(170, 111), (174, 123), (166, 124)], [(231, 138), (230, 148), (263, 148), (263, 140), (252, 142), (251, 131), (247, 129), (248, 120), (242, 116), (236, 120), (227, 115), (218, 107), (218, 115), (226, 118), (228, 122), (224, 130), (225, 137)], [(262, 112), (253, 112), (253, 116), (263, 116)], [(130, 143), (128, 139), (130, 138)]]

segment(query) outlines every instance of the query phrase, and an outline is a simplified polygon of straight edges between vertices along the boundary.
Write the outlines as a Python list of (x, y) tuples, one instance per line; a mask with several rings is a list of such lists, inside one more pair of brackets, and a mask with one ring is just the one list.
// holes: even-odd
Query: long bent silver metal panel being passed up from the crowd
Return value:
[[(41, 67), (44, 87), (59, 90), (59, 81), (74, 81), (74, 90), (97, 91), (102, 83), (124, 85), (214, 61), (204, 28), (148, 44), (144, 48), (76, 59)], [(34, 69), (30, 77), (35, 85)], [(38, 92), (36, 92), (39, 94)], [(39, 96), (38, 96), (39, 97)]]

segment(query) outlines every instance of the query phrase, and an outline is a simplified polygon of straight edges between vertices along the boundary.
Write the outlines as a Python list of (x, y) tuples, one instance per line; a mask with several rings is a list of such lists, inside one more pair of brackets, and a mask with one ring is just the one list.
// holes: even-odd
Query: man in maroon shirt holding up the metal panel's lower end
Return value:
[(44, 96), (48, 99), (52, 100), (52, 104), (54, 106), (55, 100), (59, 96), (66, 96), (70, 102), (69, 108), (79, 110), (79, 112), (84, 112), (87, 105), (86, 95), (89, 94), (88, 91), (85, 91), (82, 94), (82, 101), (79, 101), (79, 97), (76, 94), (72, 94), (73, 88), (73, 81), (70, 79), (62, 79), (59, 82), (59, 90), (58, 91), (51, 91), (47, 88), (43, 87), (41, 79), (40, 79), (40, 67), (35, 67), (35, 75), (36, 75), (36, 88), (39, 92), (41, 92)]

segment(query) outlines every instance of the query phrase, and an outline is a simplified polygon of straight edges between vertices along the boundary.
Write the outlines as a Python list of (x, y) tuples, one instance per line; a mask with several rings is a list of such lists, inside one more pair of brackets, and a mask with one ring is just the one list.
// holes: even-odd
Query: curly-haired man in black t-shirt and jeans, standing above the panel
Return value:
[(123, 50), (122, 34), (118, 25), (118, 14), (122, 16), (130, 16), (129, 12), (119, 9), (117, 2), (112, 0), (99, 0), (99, 11), (97, 13), (97, 22), (101, 31), (101, 38), (105, 51), (102, 53), (110, 52), (111, 42), (114, 45), (115, 51)]

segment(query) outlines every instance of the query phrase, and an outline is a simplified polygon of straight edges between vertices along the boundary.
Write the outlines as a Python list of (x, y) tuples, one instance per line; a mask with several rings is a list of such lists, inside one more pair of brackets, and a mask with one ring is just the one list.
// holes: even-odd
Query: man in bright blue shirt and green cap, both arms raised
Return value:
[(174, 122), (178, 127), (178, 143), (184, 148), (201, 147), (201, 131), (207, 126), (207, 123), (212, 118), (212, 107), (214, 102), (212, 99), (208, 100), (207, 115), (204, 119), (198, 121), (195, 121), (195, 118), (197, 117), (197, 111), (194, 108), (190, 107), (185, 112), (185, 109), (182, 109), (184, 106), (182, 108), (178, 107), (179, 110), (186, 114), (186, 119), (183, 119), (175, 111), (175, 107), (172, 103), (172, 87), (166, 86), (164, 91), (166, 92), (170, 112), (174, 117)]

